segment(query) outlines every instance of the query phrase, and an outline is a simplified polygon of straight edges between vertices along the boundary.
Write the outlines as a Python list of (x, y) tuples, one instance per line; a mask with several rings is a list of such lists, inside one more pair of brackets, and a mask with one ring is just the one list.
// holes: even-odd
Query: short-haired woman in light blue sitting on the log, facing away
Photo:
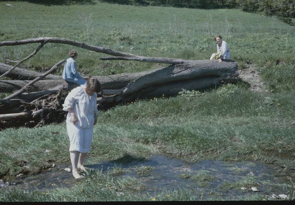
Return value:
[(76, 50), (69, 52), (71, 58), (68, 58), (65, 62), (65, 67), (63, 69), (63, 79), (69, 82), (77, 83), (80, 86), (85, 86), (86, 78), (81, 77), (77, 72), (76, 62), (74, 61), (78, 58), (78, 53)]

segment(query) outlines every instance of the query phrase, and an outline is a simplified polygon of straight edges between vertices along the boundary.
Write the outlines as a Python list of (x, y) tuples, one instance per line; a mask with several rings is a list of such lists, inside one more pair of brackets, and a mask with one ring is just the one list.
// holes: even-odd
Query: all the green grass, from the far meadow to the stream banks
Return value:
[[(208, 59), (216, 50), (213, 37), (221, 34), (239, 68), (247, 69), (246, 62), (252, 62), (260, 71), (268, 91), (253, 92), (242, 84), (227, 85), (208, 90), (203, 95), (141, 100), (100, 111), (87, 164), (103, 160), (120, 162), (130, 158), (148, 160), (154, 154), (165, 154), (189, 162), (220, 159), (295, 165), (294, 27), (275, 18), (238, 9), (201, 10), (93, 3), (47, 6), (25, 1), (0, 1), (0, 41), (58, 36), (142, 56)], [(89, 17), (91, 12), (93, 22), (87, 35), (83, 32), (86, 27), (79, 14)], [(0, 47), (0, 62), (20, 60), (36, 47)], [(67, 58), (68, 50), (73, 48), (47, 44), (20, 67), (47, 70)], [(99, 56), (104, 54), (75, 49), (79, 53), (76, 60), (78, 71), (82, 74), (118, 74), (163, 66), (100, 61)], [(61, 72), (60, 69), (56, 74)], [(64, 123), (37, 129), (3, 130), (0, 135), (0, 176), (38, 173), (48, 168), (48, 158), (70, 163), (68, 146)], [(44, 154), (46, 149), (51, 150), (49, 155)], [(30, 166), (24, 167), (21, 163), (24, 161)], [(202, 175), (194, 175), (193, 178), (200, 180)], [(0, 192), (0, 201), (201, 199), (186, 189), (163, 190), (157, 196), (129, 191), (130, 187), (138, 188), (142, 184), (133, 178), (114, 179), (108, 173), (102, 175), (96, 170), (74, 189), (57, 188), (50, 193), (7, 189)], [(225, 184), (224, 187), (232, 186)], [(291, 190), (295, 188), (290, 187)], [(135, 191), (140, 190), (135, 188)], [(94, 192), (99, 194), (92, 195)], [(258, 193), (211, 199), (263, 200), (263, 197)]]

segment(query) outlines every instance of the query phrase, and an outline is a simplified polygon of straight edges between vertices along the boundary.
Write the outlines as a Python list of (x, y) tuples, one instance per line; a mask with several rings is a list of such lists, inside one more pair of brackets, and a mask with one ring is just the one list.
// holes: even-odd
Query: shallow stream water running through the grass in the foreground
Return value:
[[(137, 175), (136, 170), (142, 166), (150, 166), (153, 169), (148, 175)], [(71, 167), (71, 165), (60, 164), (57, 167), (66, 168)], [(278, 165), (221, 160), (190, 163), (163, 155), (154, 155), (149, 160), (125, 160), (124, 163), (119, 161), (92, 165), (86, 163), (86, 167), (102, 169), (104, 172), (112, 167), (121, 167), (124, 173), (117, 177), (132, 176), (138, 178), (147, 187), (145, 191), (150, 194), (155, 194), (163, 189), (186, 188), (191, 190), (193, 195), (203, 195), (203, 199), (210, 195), (224, 197), (244, 195), (252, 192), (249, 190), (251, 187), (257, 187), (259, 193), (271, 196), (272, 193), (286, 193), (286, 190), (283, 190), (283, 183), (288, 182), (289, 179), (295, 181), (295, 170)], [(184, 175), (187, 177), (181, 177)], [(69, 188), (78, 182), (72, 177), (71, 173), (58, 170), (55, 167), (51, 171), (36, 175), (15, 178), (6, 182), (2, 181), (0, 182), (0, 190), (1, 187), (21, 186), (28, 190), (47, 191), (57, 187)], [(242, 190), (242, 187), (245, 187), (245, 190)]]

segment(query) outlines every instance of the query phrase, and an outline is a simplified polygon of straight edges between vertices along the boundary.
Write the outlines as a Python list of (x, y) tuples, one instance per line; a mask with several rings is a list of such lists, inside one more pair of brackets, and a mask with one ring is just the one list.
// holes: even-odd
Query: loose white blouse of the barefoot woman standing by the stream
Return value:
[[(83, 87), (74, 88), (65, 98), (63, 110), (68, 111), (68, 108), (73, 108), (76, 117), (78, 118), (77, 125), (81, 128), (90, 128), (94, 123), (94, 113), (97, 110), (97, 93), (92, 96), (86, 94)], [(68, 113), (66, 122), (71, 122), (71, 114)]]

